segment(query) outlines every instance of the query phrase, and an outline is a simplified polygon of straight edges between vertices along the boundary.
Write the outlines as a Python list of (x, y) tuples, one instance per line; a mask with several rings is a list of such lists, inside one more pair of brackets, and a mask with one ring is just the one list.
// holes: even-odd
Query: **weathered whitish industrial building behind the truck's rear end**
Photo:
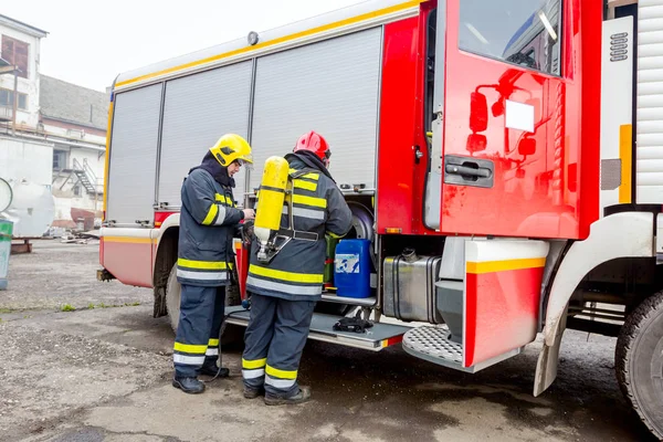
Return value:
[(0, 179), (14, 238), (101, 218), (108, 94), (40, 74), (46, 31), (0, 14)]

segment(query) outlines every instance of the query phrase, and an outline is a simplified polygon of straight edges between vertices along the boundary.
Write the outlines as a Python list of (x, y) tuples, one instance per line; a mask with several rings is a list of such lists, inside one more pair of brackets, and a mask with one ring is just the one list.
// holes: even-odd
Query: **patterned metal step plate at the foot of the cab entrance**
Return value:
[(517, 348), (472, 367), (463, 367), (463, 346), (449, 340), (449, 327), (445, 325), (412, 328), (403, 335), (402, 347), (417, 358), (466, 372), (483, 370), (520, 352), (520, 348)]

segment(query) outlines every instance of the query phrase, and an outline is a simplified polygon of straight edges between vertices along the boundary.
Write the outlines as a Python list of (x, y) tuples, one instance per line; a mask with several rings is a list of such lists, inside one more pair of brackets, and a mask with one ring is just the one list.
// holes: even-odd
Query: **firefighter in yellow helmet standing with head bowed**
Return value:
[(254, 218), (235, 208), (233, 175), (252, 165), (251, 146), (235, 134), (223, 135), (181, 188), (177, 280), (181, 284), (179, 325), (173, 347), (172, 386), (200, 393), (199, 373), (228, 377), (217, 366), (225, 286), (231, 281), (232, 241), (239, 222)]

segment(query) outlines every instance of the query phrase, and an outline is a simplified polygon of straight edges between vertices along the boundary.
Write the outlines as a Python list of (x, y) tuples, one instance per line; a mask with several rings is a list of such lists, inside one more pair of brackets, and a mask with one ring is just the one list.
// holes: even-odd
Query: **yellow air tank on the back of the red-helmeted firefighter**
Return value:
[(290, 165), (283, 157), (270, 157), (265, 161), (253, 229), (263, 253), (272, 231), (281, 228), (288, 169)]

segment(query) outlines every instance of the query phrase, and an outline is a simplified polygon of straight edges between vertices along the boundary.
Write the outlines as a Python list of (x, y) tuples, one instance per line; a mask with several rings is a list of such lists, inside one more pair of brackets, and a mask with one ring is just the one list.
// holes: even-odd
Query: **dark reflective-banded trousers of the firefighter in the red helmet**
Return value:
[(315, 301), (285, 301), (251, 295), (251, 317), (244, 335), (244, 386), (290, 398), (299, 391), (297, 369), (308, 337)]

